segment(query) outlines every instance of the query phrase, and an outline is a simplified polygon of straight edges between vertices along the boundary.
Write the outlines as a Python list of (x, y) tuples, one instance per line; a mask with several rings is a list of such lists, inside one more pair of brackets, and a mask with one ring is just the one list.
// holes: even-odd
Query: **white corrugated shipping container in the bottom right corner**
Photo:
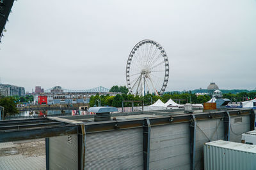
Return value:
[(204, 145), (205, 170), (256, 169), (256, 146), (230, 141), (213, 141)]

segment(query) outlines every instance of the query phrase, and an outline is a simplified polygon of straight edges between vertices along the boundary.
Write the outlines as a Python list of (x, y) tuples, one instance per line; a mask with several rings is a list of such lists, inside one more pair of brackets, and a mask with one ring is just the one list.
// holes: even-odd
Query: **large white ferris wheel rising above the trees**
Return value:
[(128, 94), (163, 94), (169, 78), (169, 62), (163, 46), (145, 39), (132, 48), (126, 64)]

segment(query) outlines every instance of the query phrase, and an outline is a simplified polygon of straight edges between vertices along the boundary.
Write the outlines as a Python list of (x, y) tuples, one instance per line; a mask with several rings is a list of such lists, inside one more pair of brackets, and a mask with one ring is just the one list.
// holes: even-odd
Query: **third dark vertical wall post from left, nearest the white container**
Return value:
[(190, 169), (195, 169), (195, 150), (196, 150), (196, 118), (191, 115), (190, 125)]

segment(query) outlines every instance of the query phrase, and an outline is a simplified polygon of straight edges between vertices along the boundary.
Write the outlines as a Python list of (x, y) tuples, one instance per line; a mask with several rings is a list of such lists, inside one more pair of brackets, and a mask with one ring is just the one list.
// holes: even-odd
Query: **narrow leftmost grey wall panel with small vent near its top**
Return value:
[(77, 169), (77, 134), (49, 138), (50, 169)]

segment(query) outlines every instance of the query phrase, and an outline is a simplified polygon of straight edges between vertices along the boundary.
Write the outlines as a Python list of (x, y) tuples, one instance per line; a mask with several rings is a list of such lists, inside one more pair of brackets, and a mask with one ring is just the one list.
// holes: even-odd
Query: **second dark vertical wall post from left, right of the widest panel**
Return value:
[(149, 153), (150, 153), (150, 120), (146, 118), (143, 125), (143, 169), (149, 169)]

